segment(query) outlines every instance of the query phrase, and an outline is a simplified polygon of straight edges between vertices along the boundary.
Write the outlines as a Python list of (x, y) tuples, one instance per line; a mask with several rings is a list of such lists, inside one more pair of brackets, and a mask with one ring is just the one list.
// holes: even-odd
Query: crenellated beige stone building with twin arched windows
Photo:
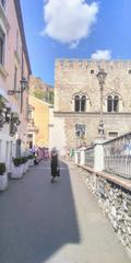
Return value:
[(57, 60), (53, 135), (61, 153), (90, 145), (98, 136), (100, 87), (96, 75), (100, 68), (107, 73), (103, 87), (105, 137), (131, 130), (131, 61)]

